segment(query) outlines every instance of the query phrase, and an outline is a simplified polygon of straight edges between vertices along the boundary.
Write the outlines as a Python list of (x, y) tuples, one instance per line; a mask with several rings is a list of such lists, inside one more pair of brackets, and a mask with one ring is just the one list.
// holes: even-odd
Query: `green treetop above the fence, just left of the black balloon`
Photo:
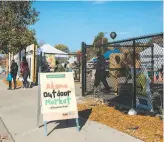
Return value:
[(93, 41), (93, 44), (96, 47), (101, 47), (102, 43), (105, 44), (108, 42), (108, 38), (105, 37), (105, 34), (103, 32), (98, 33), (97, 36), (95, 36), (95, 39)]

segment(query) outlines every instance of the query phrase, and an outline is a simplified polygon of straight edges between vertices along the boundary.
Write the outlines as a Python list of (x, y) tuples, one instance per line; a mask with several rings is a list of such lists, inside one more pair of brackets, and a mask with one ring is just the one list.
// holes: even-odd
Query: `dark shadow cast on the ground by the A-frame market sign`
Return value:
[[(83, 111), (79, 111), (79, 125), (80, 125), (80, 130), (82, 127), (85, 125), (87, 122), (90, 114), (92, 112), (92, 109), (86, 109)], [(57, 126), (55, 126), (49, 133), (50, 135), (55, 129), (63, 129), (63, 128), (69, 128), (69, 127), (76, 127), (76, 120), (75, 119), (68, 119), (68, 120), (58, 120), (54, 121), (55, 123), (59, 123)], [(47, 124), (52, 123), (48, 122)]]

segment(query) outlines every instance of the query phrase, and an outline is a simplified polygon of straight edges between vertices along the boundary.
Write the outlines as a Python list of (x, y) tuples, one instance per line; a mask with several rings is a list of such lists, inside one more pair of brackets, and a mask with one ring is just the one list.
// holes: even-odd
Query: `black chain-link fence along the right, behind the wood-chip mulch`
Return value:
[(114, 41), (99, 49), (83, 42), (83, 96), (93, 94), (91, 72), (97, 50), (107, 61), (107, 81), (112, 88), (108, 95), (117, 96), (118, 103), (153, 110), (153, 102), (163, 94), (163, 33)]

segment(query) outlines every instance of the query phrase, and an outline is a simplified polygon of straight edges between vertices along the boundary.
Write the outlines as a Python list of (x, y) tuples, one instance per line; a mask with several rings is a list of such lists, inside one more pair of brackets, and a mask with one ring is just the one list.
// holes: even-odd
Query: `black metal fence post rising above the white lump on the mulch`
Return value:
[(136, 109), (136, 42), (135, 39), (133, 39), (133, 94), (132, 94), (132, 108)]

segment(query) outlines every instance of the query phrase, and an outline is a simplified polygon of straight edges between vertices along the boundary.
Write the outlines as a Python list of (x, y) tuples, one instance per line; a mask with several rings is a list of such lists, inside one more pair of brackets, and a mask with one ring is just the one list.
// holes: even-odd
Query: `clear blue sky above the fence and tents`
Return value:
[(120, 40), (163, 31), (160, 1), (36, 1), (33, 6), (40, 12), (32, 26), (37, 40), (65, 44), (71, 51), (79, 50), (82, 41), (92, 44), (98, 32), (115, 31)]

